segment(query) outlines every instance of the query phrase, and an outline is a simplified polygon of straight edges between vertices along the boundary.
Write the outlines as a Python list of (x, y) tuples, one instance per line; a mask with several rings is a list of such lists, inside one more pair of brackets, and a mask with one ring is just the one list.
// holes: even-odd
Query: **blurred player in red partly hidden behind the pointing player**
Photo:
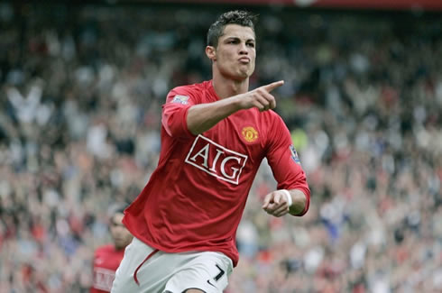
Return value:
[(122, 223), (124, 207), (117, 207), (112, 214), (109, 230), (113, 239), (112, 244), (97, 248), (94, 254), (94, 279), (91, 293), (110, 292), (115, 279), (115, 270), (124, 256), (124, 248), (131, 243), (132, 234)]

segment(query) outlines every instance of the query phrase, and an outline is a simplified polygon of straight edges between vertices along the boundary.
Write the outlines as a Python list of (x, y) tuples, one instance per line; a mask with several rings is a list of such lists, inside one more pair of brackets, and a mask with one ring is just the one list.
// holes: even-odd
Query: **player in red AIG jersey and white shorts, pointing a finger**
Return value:
[(304, 215), (309, 189), (271, 92), (248, 91), (256, 56), (253, 16), (222, 14), (207, 33), (213, 79), (176, 87), (162, 107), (161, 156), (125, 210), (134, 234), (112, 292), (222, 292), (238, 261), (235, 233), (263, 158), (278, 190), (262, 208)]

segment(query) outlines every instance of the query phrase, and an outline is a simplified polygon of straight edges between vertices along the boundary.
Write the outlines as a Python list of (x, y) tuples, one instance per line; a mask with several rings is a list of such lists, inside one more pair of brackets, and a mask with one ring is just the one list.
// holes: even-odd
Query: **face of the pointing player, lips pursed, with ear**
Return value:
[(255, 36), (252, 28), (227, 24), (216, 48), (207, 46), (206, 53), (214, 70), (226, 78), (242, 80), (253, 74), (256, 58)]

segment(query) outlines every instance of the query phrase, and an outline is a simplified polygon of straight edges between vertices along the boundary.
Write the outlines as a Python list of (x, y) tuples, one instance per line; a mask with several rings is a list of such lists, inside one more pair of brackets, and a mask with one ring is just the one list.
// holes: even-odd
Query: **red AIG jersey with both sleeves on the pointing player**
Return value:
[(310, 192), (289, 130), (273, 111), (241, 110), (205, 133), (190, 133), (189, 107), (217, 100), (211, 81), (170, 91), (162, 105), (158, 167), (123, 223), (160, 251), (223, 252), (235, 266), (236, 229), (263, 158), (278, 189), (298, 188), (308, 203)]

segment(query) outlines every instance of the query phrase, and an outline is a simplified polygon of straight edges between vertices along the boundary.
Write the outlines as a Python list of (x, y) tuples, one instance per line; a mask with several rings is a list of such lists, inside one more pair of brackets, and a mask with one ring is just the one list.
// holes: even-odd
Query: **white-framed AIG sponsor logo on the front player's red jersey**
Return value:
[(246, 155), (198, 135), (185, 161), (217, 179), (237, 185), (246, 160)]

